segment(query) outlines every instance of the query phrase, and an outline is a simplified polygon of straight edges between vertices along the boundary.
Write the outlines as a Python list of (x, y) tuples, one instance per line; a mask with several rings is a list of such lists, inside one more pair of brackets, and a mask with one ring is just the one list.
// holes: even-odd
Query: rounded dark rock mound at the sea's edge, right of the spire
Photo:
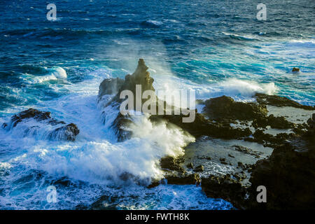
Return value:
[(264, 104), (235, 102), (231, 97), (216, 97), (206, 101), (204, 113), (215, 120), (254, 120), (267, 116)]

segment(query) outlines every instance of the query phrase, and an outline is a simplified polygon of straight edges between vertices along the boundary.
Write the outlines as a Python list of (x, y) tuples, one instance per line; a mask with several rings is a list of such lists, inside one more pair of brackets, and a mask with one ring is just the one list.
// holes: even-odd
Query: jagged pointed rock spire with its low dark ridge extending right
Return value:
[[(112, 88), (111, 85), (120, 86), (116, 96), (111, 99), (111, 102), (106, 104), (106, 106), (111, 104), (118, 109), (120, 103), (123, 102), (123, 99), (119, 98), (120, 92), (122, 92), (123, 90), (130, 90), (135, 94), (136, 85), (141, 85), (141, 93), (146, 90), (155, 91), (153, 87), (153, 78), (150, 77), (150, 73), (148, 73), (147, 70), (148, 67), (144, 63), (144, 59), (139, 59), (136, 71), (134, 71), (132, 75), (125, 76), (125, 80), (104, 80), (99, 87), (99, 96), (102, 96), (102, 94), (116, 92), (117, 87)], [(158, 99), (156, 98), (155, 100)], [(135, 101), (136, 99), (134, 99), (134, 104)], [(142, 104), (144, 103), (144, 101), (146, 101), (146, 99), (142, 100)], [(165, 102), (162, 102), (162, 104), (165, 104)], [(245, 109), (245, 111), (248, 108), (255, 108), (256, 111), (258, 111), (258, 109), (261, 109), (262, 111), (264, 111), (263, 113), (265, 113), (265, 109), (263, 108), (263, 106), (258, 106), (255, 104), (250, 104), (248, 106), (247, 104), (237, 102), (235, 102), (235, 105), (241, 105), (237, 106), (237, 108), (241, 107), (241, 109)], [(174, 110), (174, 107), (172, 109)], [(241, 112), (239, 111), (239, 113)], [(247, 113), (248, 112), (245, 112), (243, 117), (245, 117)], [(230, 123), (213, 122), (212, 120), (204, 118), (204, 116), (201, 113), (197, 113), (197, 111), (193, 123), (183, 123), (183, 117), (186, 116), (184, 116), (183, 114), (166, 115), (166, 113), (164, 113), (164, 115), (151, 115), (150, 120), (153, 123), (160, 123), (162, 120), (164, 120), (167, 123), (171, 123), (178, 127), (181, 127), (184, 131), (186, 131), (188, 134), (193, 135), (194, 137), (202, 137), (204, 135), (207, 135), (223, 139), (239, 139), (242, 137), (248, 137), (250, 134), (252, 134), (249, 128), (233, 128), (230, 126)], [(125, 139), (130, 138), (132, 133), (126, 127), (128, 127), (131, 123), (132, 119), (130, 118), (130, 116), (123, 116), (121, 113), (118, 114), (112, 125), (113, 130), (118, 137), (118, 141), (124, 141)]]

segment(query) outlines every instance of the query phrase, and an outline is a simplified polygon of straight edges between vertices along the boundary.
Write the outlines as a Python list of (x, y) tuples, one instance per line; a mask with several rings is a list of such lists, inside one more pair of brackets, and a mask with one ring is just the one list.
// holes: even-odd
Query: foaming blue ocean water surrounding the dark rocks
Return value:
[[(118, 144), (102, 125), (99, 83), (132, 73), (139, 57), (156, 89), (245, 101), (265, 92), (315, 104), (314, 1), (264, 1), (266, 21), (256, 19), (260, 1), (251, 0), (53, 3), (56, 21), (46, 19), (46, 1), (0, 2), (0, 122), (34, 107), (76, 123), (80, 134), (64, 143), (0, 130), (1, 209), (74, 209), (104, 194), (118, 198), (109, 202), (118, 209), (231, 208), (193, 186), (148, 190), (115, 180), (126, 171), (159, 175), (147, 161), (186, 141), (169, 139), (159, 154), (150, 134)], [(300, 73), (290, 72), (294, 66)], [(71, 185), (57, 185), (58, 202), (46, 202), (45, 188), (60, 178)]]

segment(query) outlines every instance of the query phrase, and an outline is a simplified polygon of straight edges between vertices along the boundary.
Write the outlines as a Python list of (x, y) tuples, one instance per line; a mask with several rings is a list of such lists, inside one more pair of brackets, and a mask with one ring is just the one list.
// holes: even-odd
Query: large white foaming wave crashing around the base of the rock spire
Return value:
[[(94, 80), (87, 80), (87, 83), (96, 85)], [(87, 83), (80, 83), (80, 89)], [(107, 124), (103, 125), (97, 109), (95, 88), (91, 92), (90, 88), (82, 92), (76, 92), (77, 89), (73, 86), (72, 94), (48, 104), (43, 102), (45, 111), (58, 111), (58, 119), (78, 125), (80, 134), (76, 141), (48, 141), (41, 138), (49, 127), (42, 127), (38, 133), (29, 133), (25, 137), (21, 134), (24, 129), (13, 130), (4, 134), (3, 139), (17, 153), (22, 146), (25, 156), (19, 155), (9, 160), (10, 164), (23, 165), (27, 170), (40, 170), (56, 178), (68, 176), (88, 183), (123, 184), (123, 176), (128, 174), (133, 181), (148, 184), (151, 179), (163, 177), (160, 158), (183, 155), (183, 147), (195, 141), (179, 128), (169, 128), (165, 123), (153, 125), (146, 116), (139, 116), (134, 118), (134, 125), (130, 127), (134, 132), (132, 139), (118, 143), (113, 138), (110, 125), (113, 119), (110, 118), (115, 118), (119, 111), (108, 108)], [(29, 120), (23, 125), (29, 128), (38, 124)], [(36, 135), (39, 137), (36, 138)]]

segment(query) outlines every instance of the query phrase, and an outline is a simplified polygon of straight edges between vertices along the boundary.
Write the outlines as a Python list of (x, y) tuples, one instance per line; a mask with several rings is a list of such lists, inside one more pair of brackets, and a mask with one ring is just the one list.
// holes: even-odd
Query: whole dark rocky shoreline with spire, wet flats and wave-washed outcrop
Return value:
[[(147, 70), (144, 60), (139, 59), (132, 75), (103, 80), (98, 95), (101, 108), (118, 110), (123, 102), (120, 93), (123, 90), (135, 93), (136, 85), (141, 85), (141, 94), (155, 91)], [(227, 96), (197, 100), (203, 109), (196, 110), (193, 123), (183, 123), (186, 116), (182, 113), (151, 115), (153, 125), (160, 122), (175, 125), (196, 141), (186, 146), (185, 155), (162, 158), (160, 168), (165, 179), (151, 180), (148, 188), (195, 184), (208, 197), (222, 198), (237, 209), (315, 209), (315, 107), (276, 95), (256, 93), (253, 97), (255, 102), (247, 103), (235, 102)], [(160, 101), (156, 96), (153, 98)], [(105, 123), (106, 110), (103, 118)], [(49, 112), (35, 109), (22, 111), (2, 127), (12, 130), (29, 119), (50, 125), (50, 139), (75, 141), (79, 133), (75, 124), (66, 125), (50, 118)], [(132, 123), (132, 116), (118, 113), (111, 124), (118, 141), (132, 138), (132, 130), (128, 129)], [(130, 175), (122, 178), (126, 176)], [(267, 189), (267, 203), (257, 202), (258, 186)], [(106, 209), (102, 205), (106, 198), (100, 197), (85, 209)]]

